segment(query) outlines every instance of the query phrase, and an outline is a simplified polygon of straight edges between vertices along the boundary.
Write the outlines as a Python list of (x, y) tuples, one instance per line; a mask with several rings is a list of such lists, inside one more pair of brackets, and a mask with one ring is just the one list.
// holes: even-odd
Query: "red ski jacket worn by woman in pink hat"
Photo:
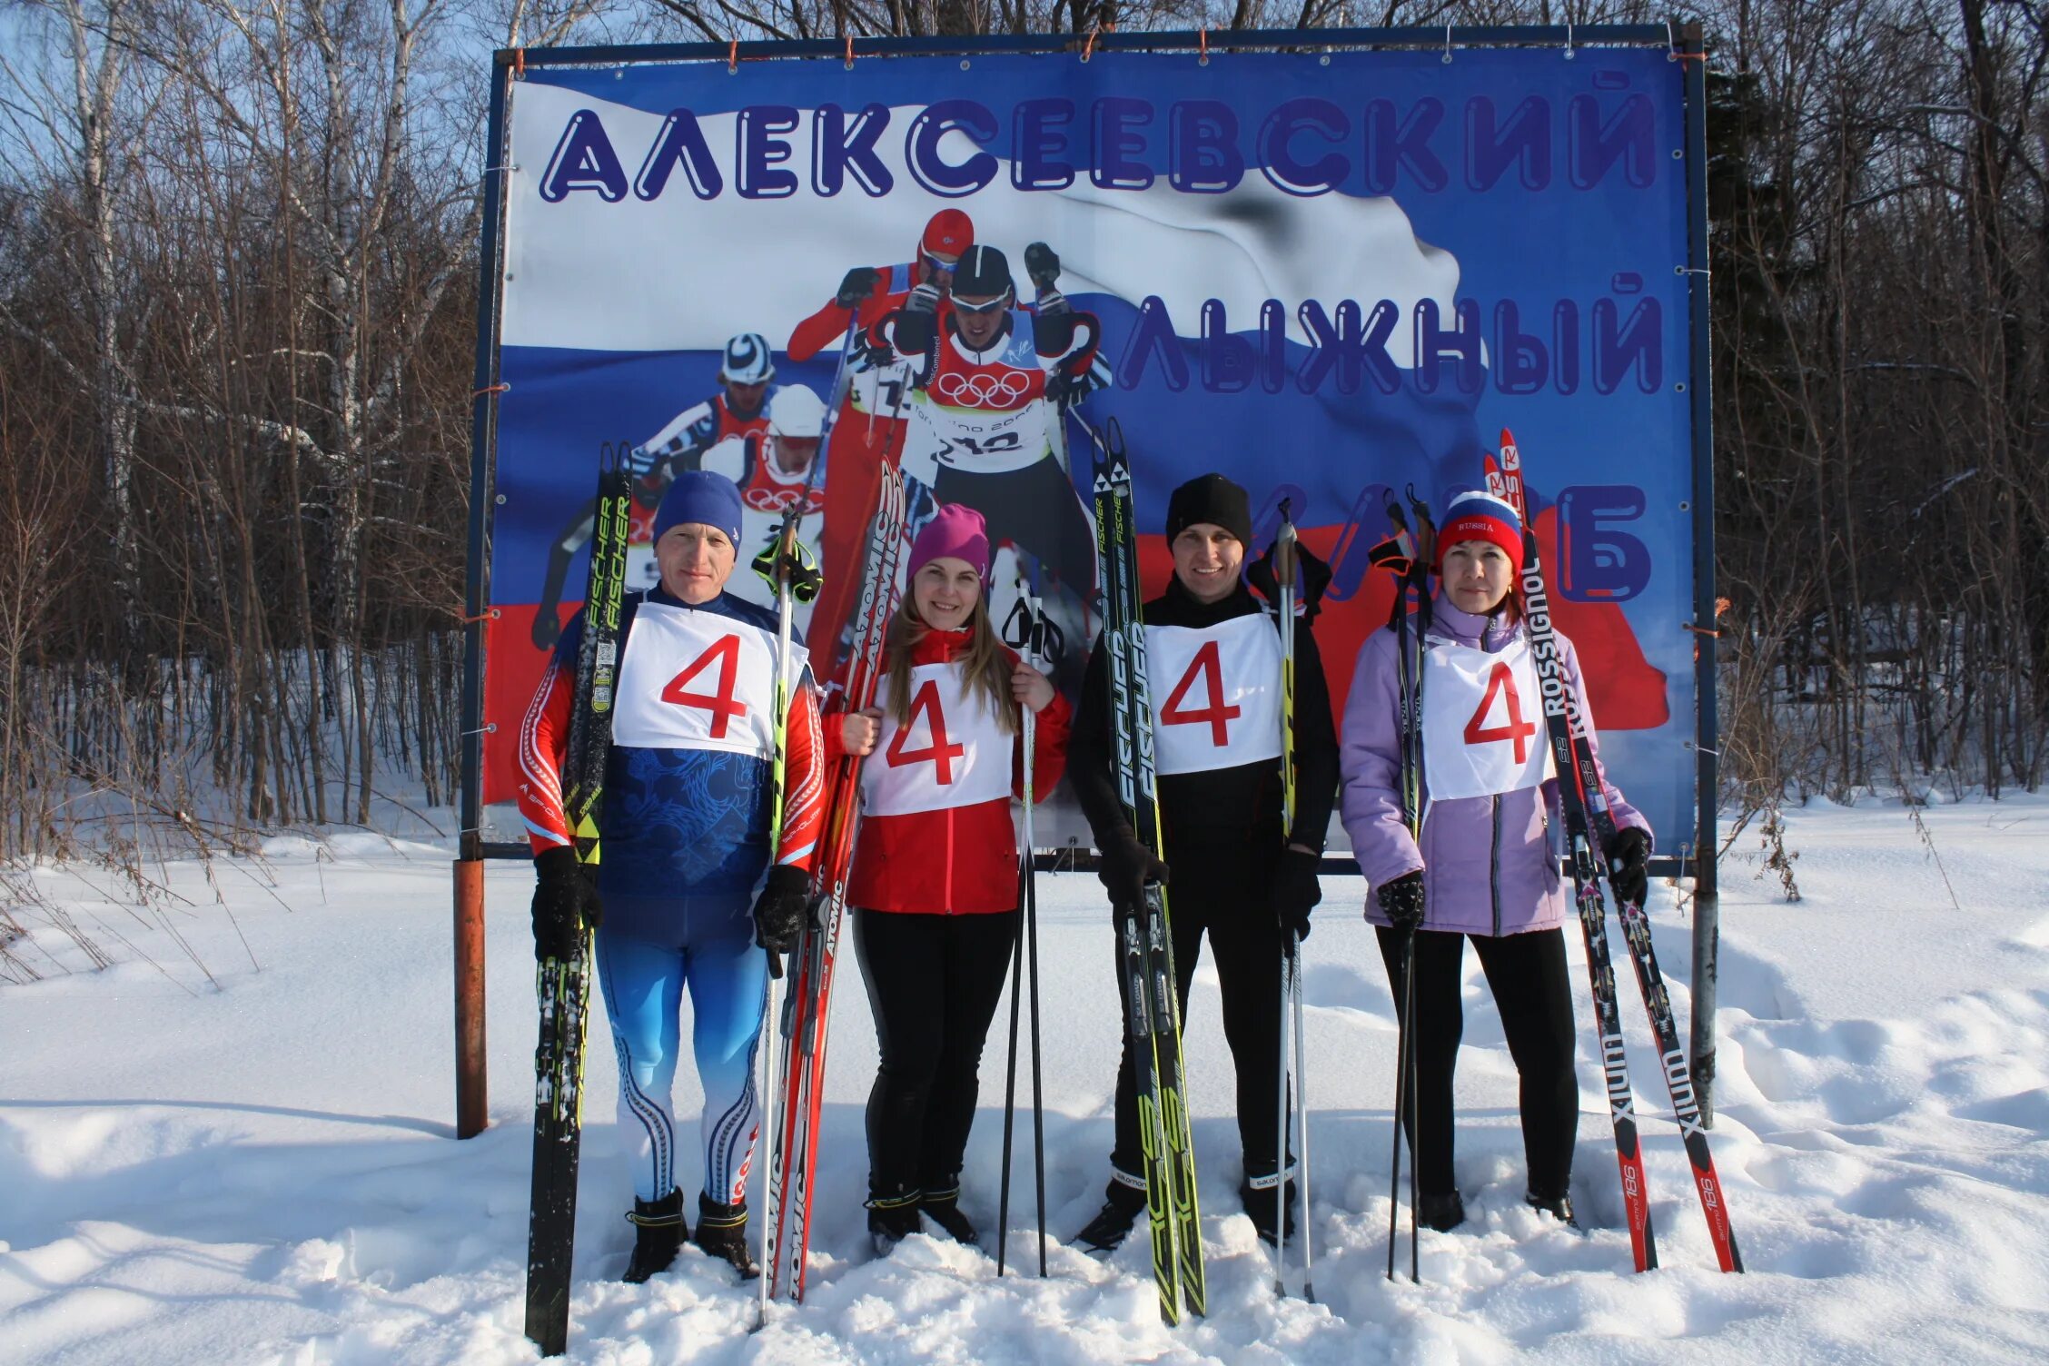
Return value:
[[(912, 647), (912, 664), (947, 664), (959, 631), (928, 631)], [(1016, 653), (1004, 649), (1012, 664)], [(1068, 762), (1068, 698), (1053, 694), (1037, 715), (1033, 797), (1045, 801)], [(1010, 793), (1024, 795), (1022, 733), (1010, 748)], [(844, 754), (838, 717), (826, 719), (826, 758)], [(867, 762), (875, 762), (869, 756)], [(926, 915), (994, 915), (1018, 905), (1018, 836), (1010, 801), (981, 801), (908, 815), (865, 815), (846, 887), (850, 905)]]

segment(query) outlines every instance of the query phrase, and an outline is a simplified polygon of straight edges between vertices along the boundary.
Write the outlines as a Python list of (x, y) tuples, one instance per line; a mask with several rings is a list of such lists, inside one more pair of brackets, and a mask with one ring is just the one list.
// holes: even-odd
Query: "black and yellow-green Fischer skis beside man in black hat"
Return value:
[[(1080, 420), (1080, 414), (1076, 414)], [(1086, 422), (1084, 422), (1086, 428)], [(1154, 799), (1154, 715), (1145, 684), (1143, 594), (1137, 526), (1131, 518), (1131, 463), (1117, 420), (1094, 449), (1096, 551), (1104, 575), (1106, 657), (1111, 666), (1111, 754), (1125, 819), (1158, 856), (1160, 809)], [(1203, 1225), (1195, 1198), (1195, 1145), (1182, 1096), (1180, 1001), (1174, 995), (1174, 936), (1166, 887), (1147, 883), (1143, 905), (1119, 924), (1123, 973), (1131, 987), (1131, 1061), (1137, 1081), (1139, 1137), (1145, 1151), (1145, 1212), (1152, 1221), (1154, 1280), (1160, 1317), (1180, 1323), (1182, 1309), (1205, 1313)]]

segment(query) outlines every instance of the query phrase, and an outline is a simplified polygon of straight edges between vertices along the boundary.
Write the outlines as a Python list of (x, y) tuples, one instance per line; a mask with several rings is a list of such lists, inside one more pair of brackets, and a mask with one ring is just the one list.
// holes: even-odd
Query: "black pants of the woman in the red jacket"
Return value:
[(912, 915), (854, 907), (881, 1067), (869, 1092), (869, 1186), (959, 1184), (975, 1122), (975, 1069), (1004, 993), (1016, 913)]

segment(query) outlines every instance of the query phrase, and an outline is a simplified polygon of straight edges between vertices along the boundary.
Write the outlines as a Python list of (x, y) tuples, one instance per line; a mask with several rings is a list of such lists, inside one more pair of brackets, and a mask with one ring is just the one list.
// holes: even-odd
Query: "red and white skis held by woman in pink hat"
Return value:
[[(883, 674), (883, 641), (895, 612), (897, 565), (904, 557), (904, 475), (883, 467), (881, 498), (869, 532), (861, 582), (854, 659), (848, 668), (842, 711), (875, 702)], [(832, 1006), (832, 967), (838, 958), (840, 920), (846, 913), (846, 879), (861, 825), (861, 758), (844, 756), (826, 784), (826, 834), (813, 874), (811, 915), (791, 954), (789, 997), (781, 1020), (785, 1067), (770, 1106), (768, 1208), (762, 1216), (762, 1296), (803, 1298), (805, 1255), (811, 1243), (811, 1171), (818, 1159), (818, 1110), (826, 1079), (826, 1022)]]

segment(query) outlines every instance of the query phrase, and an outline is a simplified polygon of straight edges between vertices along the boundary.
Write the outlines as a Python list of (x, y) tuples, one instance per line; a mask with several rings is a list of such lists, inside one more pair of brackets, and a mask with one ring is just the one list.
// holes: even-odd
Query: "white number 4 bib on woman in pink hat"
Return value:
[(908, 815), (1010, 797), (1010, 735), (986, 700), (967, 694), (957, 664), (910, 672), (910, 713), (897, 725), (889, 680), (875, 690), (883, 733), (861, 764), (861, 811)]

